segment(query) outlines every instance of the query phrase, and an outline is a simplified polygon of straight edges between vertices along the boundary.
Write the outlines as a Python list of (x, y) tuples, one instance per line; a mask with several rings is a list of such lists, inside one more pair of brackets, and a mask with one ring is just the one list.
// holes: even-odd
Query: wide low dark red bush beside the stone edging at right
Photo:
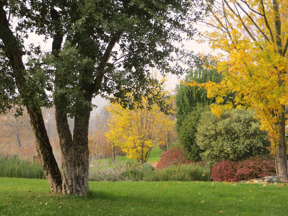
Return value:
[(273, 175), (275, 173), (273, 159), (264, 156), (250, 157), (242, 161), (221, 161), (211, 170), (213, 181), (241, 181)]

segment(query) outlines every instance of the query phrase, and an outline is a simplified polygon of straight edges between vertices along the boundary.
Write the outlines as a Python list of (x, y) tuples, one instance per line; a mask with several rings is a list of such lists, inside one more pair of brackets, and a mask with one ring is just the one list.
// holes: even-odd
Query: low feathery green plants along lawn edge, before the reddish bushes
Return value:
[(133, 181), (210, 181), (210, 169), (198, 164), (182, 164), (171, 167), (148, 170), (127, 169), (123, 180)]

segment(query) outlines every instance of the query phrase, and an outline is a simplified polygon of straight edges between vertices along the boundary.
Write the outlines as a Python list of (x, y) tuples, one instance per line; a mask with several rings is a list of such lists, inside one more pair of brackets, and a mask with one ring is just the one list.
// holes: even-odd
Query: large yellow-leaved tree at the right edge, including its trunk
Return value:
[[(218, 65), (223, 80), (204, 86), (214, 114), (233, 107), (253, 109), (268, 131), (271, 152), (281, 181), (287, 181), (285, 107), (287, 92), (288, 12), (287, 0), (216, 1), (203, 20), (210, 30), (203, 33), (211, 48), (221, 49)], [(194, 86), (196, 83), (190, 83)], [(235, 93), (235, 100), (227, 98)], [(228, 99), (228, 101), (227, 101)], [(225, 104), (223, 105), (223, 102)]]

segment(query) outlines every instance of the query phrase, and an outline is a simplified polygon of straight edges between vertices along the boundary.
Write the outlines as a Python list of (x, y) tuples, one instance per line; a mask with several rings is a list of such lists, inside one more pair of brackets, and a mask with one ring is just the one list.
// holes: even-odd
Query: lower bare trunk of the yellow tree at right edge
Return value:
[[(283, 106), (283, 110), (285, 107)], [(280, 139), (276, 149), (276, 170), (280, 181), (287, 182), (287, 155), (285, 143), (285, 111), (279, 114), (280, 116)]]

